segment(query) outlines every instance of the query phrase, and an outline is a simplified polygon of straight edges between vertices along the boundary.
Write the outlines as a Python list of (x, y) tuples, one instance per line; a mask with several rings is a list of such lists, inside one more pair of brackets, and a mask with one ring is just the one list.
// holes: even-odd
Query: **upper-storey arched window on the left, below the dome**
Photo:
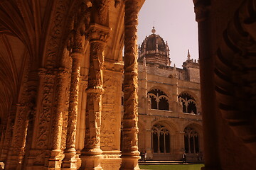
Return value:
[(151, 108), (169, 111), (168, 97), (164, 94), (164, 91), (159, 89), (153, 89), (148, 93), (151, 98)]

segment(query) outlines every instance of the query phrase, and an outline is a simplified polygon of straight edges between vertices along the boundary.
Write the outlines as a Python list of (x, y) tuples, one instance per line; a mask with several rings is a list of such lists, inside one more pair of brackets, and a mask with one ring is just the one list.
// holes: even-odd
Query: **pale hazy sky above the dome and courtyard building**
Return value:
[(138, 43), (151, 34), (153, 25), (170, 47), (171, 66), (181, 68), (188, 49), (198, 59), (198, 29), (193, 0), (146, 0), (139, 12)]

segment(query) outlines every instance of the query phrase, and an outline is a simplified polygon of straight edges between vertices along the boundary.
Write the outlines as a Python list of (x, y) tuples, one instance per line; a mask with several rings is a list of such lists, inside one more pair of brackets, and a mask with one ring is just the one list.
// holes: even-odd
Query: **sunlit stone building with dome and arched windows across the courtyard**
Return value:
[(183, 68), (171, 67), (170, 54), (154, 28), (139, 45), (139, 151), (153, 160), (181, 160), (186, 152), (188, 161), (202, 162), (199, 63), (188, 50)]

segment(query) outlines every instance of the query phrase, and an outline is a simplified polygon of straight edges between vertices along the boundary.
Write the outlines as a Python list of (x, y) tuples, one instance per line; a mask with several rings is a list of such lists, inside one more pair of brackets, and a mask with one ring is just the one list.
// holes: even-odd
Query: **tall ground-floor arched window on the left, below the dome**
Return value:
[(152, 127), (152, 150), (154, 153), (170, 153), (170, 132), (162, 125)]

